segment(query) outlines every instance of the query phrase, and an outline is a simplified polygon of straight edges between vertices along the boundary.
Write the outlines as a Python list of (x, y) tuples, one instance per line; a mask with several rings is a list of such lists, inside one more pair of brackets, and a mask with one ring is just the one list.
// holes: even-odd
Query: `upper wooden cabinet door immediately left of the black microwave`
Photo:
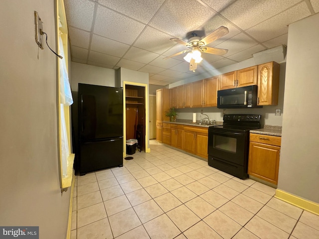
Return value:
[(204, 107), (217, 106), (217, 84), (219, 76), (204, 80)]

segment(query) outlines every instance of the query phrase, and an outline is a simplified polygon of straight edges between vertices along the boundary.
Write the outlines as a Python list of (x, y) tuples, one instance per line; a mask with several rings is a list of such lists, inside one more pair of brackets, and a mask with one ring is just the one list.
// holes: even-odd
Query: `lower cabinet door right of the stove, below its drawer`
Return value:
[(278, 146), (250, 142), (248, 174), (277, 185), (279, 155)]

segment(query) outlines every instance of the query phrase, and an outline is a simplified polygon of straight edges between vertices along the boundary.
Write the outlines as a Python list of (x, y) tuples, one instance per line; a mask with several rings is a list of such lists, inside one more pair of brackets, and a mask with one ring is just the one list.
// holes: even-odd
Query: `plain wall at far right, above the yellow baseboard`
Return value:
[(278, 189), (319, 203), (319, 14), (289, 26)]

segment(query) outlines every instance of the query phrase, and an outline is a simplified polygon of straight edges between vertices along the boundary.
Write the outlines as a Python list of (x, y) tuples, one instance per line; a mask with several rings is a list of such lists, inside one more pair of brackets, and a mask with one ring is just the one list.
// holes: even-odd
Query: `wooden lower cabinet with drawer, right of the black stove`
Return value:
[(278, 184), (280, 136), (250, 134), (248, 174)]

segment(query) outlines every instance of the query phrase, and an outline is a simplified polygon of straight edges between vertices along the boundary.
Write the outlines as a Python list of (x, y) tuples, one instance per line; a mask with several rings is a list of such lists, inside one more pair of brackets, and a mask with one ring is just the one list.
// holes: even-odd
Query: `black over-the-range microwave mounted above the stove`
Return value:
[(217, 108), (262, 108), (257, 102), (257, 86), (245, 86), (217, 91)]

